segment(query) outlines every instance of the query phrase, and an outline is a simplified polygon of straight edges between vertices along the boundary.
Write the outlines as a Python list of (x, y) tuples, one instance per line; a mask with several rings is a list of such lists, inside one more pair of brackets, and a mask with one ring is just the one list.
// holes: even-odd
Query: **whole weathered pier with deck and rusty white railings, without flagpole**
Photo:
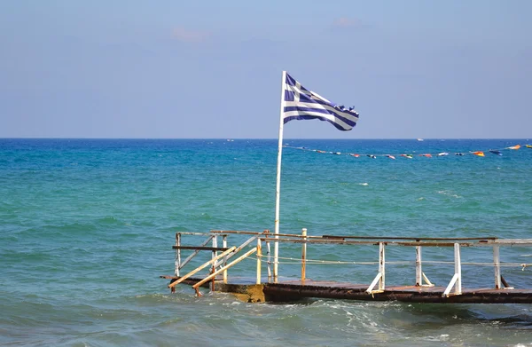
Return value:
[[(199, 246), (184, 245), (184, 236), (205, 237)], [(239, 246), (229, 246), (230, 235), (247, 235), (249, 238)], [(222, 247), (218, 246), (218, 239), (222, 238)], [(272, 259), (270, 256), (270, 243), (278, 242), (301, 245), (301, 257)], [(207, 246), (209, 245), (209, 246)], [(307, 255), (307, 246), (319, 245), (346, 245), (378, 248), (378, 260), (373, 262), (353, 262), (327, 259), (312, 259)], [(263, 246), (265, 246), (263, 251)], [(486, 238), (402, 238), (368, 236), (338, 236), (322, 235), (310, 236), (303, 229), (301, 234), (272, 234), (269, 231), (262, 233), (239, 231), (211, 231), (210, 233), (176, 233), (175, 273), (160, 276), (170, 280), (168, 288), (175, 292), (180, 283), (190, 285), (201, 296), (200, 288), (210, 288), (212, 291), (232, 293), (246, 302), (292, 302), (304, 298), (332, 298), (343, 300), (364, 301), (401, 301), (408, 303), (455, 303), (455, 304), (532, 304), (532, 288), (513, 288), (501, 273), (502, 268), (513, 267), (525, 269), (531, 264), (503, 263), (501, 262), (501, 248), (521, 248), (532, 246), (532, 239), (498, 239)], [(394, 261), (386, 259), (388, 247), (412, 248), (415, 260)], [(423, 264), (450, 264), (448, 261), (423, 261), (423, 248), (450, 248), (453, 252), (454, 272), (448, 273), (449, 282), (445, 286), (435, 286), (423, 272)], [(461, 249), (463, 248), (491, 248), (492, 254), (489, 262), (463, 263)], [(189, 252), (184, 260), (182, 251)], [(211, 259), (195, 267), (192, 271), (181, 275), (182, 269), (189, 264), (195, 256), (202, 251), (211, 252)], [(228, 271), (243, 260), (254, 260), (254, 277), (229, 277)], [(281, 261), (279, 261), (279, 259)], [(284, 264), (286, 261), (286, 264)], [(301, 266), (299, 278), (285, 278), (276, 276), (271, 272), (275, 263), (282, 266), (296, 264)], [(247, 262), (247, 264), (249, 264)], [(344, 264), (347, 266), (375, 266), (375, 277), (371, 283), (360, 284), (356, 282), (338, 282), (329, 280), (309, 280), (307, 278), (308, 264)], [(387, 285), (387, 264), (402, 264), (415, 267), (415, 277), (411, 285)], [(492, 286), (489, 288), (463, 288), (463, 265), (492, 267)], [(263, 268), (267, 272), (263, 273)], [(276, 268), (274, 266), (274, 268)], [(441, 270), (441, 269), (440, 269)], [(199, 275), (199, 272), (207, 274)], [(248, 271), (249, 272), (249, 271)], [(299, 270), (298, 270), (299, 272)], [(413, 269), (412, 269), (413, 272)], [(440, 275), (441, 276), (441, 275)], [(403, 279), (408, 282), (408, 279)]]

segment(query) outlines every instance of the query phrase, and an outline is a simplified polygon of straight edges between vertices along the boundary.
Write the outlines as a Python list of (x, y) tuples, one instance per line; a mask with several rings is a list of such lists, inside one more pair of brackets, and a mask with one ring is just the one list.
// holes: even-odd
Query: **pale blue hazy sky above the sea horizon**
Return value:
[(0, 138), (532, 138), (532, 1), (2, 1)]

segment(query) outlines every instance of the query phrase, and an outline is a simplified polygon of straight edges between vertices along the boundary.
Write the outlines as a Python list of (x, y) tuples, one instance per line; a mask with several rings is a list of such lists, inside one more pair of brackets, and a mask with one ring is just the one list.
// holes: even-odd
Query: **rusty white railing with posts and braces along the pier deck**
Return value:
[[(243, 242), (239, 247), (227, 247), (227, 238), (229, 235), (249, 235), (251, 236), (247, 241)], [(203, 235), (207, 236), (207, 240), (204, 241), (200, 246), (184, 246), (182, 245), (182, 236), (183, 235)], [(217, 247), (218, 237), (223, 238), (223, 247)], [(212, 247), (207, 247), (207, 243), (211, 241)], [(256, 241), (256, 246), (248, 251), (243, 256), (239, 256), (236, 260), (228, 264), (228, 260), (239, 253), (240, 250), (249, 246), (252, 242)], [(262, 242), (266, 244), (266, 254), (262, 253)], [(512, 247), (512, 246), (531, 246), (532, 239), (497, 239), (495, 237), (485, 237), (485, 238), (409, 238), (409, 237), (380, 237), (373, 238), (368, 236), (338, 236), (338, 235), (322, 235), (322, 236), (311, 236), (308, 235), (307, 229), (302, 229), (301, 234), (271, 234), (269, 231), (264, 231), (262, 233), (256, 232), (245, 232), (245, 231), (211, 231), (210, 233), (176, 233), (176, 245), (173, 247), (176, 249), (176, 280), (173, 281), (168, 287), (172, 288), (174, 291), (175, 286), (178, 283), (183, 282), (184, 280), (191, 277), (193, 274), (200, 272), (201, 269), (206, 268), (208, 265), (211, 265), (210, 274), (207, 275), (204, 279), (195, 283), (192, 287), (196, 289), (196, 293), (200, 295), (199, 287), (206, 283), (207, 281), (212, 281), (212, 290), (214, 290), (215, 277), (220, 273), (223, 273), (223, 283), (228, 282), (227, 270), (230, 269), (235, 264), (238, 264), (243, 259), (256, 253), (256, 284), (262, 283), (262, 262), (266, 262), (268, 268), (268, 282), (273, 281), (274, 283), (278, 282), (278, 278), (274, 276), (272, 278), (271, 272), (271, 258), (270, 258), (270, 242), (288, 242), (301, 244), (301, 259), (289, 258), (295, 260), (296, 262), (301, 262), (301, 284), (304, 284), (304, 281), (307, 279), (306, 267), (309, 263), (317, 262), (327, 262), (326, 260), (312, 260), (308, 258), (307, 255), (307, 246), (312, 245), (321, 245), (321, 244), (332, 244), (332, 245), (368, 245), (368, 246), (379, 246), (379, 261), (378, 263), (358, 263), (358, 264), (378, 264), (378, 271), (370, 286), (366, 289), (368, 294), (381, 293), (386, 289), (386, 265), (387, 264), (399, 264), (401, 262), (387, 262), (386, 261), (386, 248), (388, 246), (399, 246), (399, 247), (413, 247), (415, 248), (416, 260), (415, 260), (415, 286), (418, 287), (433, 287), (434, 284), (428, 280), (425, 272), (423, 272), (423, 260), (422, 260), (422, 249), (426, 247), (438, 247), (438, 248), (454, 248), (454, 273), (452, 278), (442, 293), (442, 296), (458, 296), (462, 293), (462, 258), (460, 255), (460, 249), (463, 247), (491, 247), (493, 248), (493, 262), (490, 263), (474, 263), (474, 264), (483, 264), (494, 267), (494, 278), (496, 289), (510, 289), (508, 283), (505, 281), (501, 275), (501, 261), (500, 261), (500, 248), (501, 247)], [(182, 249), (191, 249), (193, 250), (192, 254), (188, 256), (183, 262), (181, 261), (181, 250)], [(192, 257), (198, 255), (201, 250), (210, 250), (212, 251), (211, 260), (205, 264), (200, 265), (192, 272), (188, 272), (184, 276), (180, 276), (180, 271), (185, 264), (188, 264)], [(218, 254), (218, 252), (223, 252)], [(266, 260), (264, 258), (266, 257)], [(282, 257), (279, 257), (283, 259)], [(278, 258), (278, 259), (279, 259)], [(277, 259), (277, 263), (278, 263)], [(286, 259), (286, 258), (285, 258)], [(275, 261), (274, 261), (275, 263)], [(335, 262), (340, 264), (341, 262)], [(349, 264), (356, 264), (354, 262), (348, 262)], [(403, 262), (404, 263), (404, 262)], [(408, 263), (408, 262), (407, 262)], [(450, 262), (437, 262), (430, 261), (426, 262), (429, 264), (449, 264)], [(331, 263), (329, 263), (331, 264)], [(473, 264), (473, 263), (468, 263)], [(276, 264), (274, 264), (275, 266)], [(505, 264), (505, 265), (519, 265), (523, 269), (528, 266), (528, 264)]]

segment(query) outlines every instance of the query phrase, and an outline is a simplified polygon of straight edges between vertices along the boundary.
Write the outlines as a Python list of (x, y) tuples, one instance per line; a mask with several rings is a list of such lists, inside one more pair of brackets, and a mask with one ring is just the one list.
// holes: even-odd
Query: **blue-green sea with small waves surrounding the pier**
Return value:
[[(280, 232), (530, 238), (530, 142), (286, 139)], [(274, 230), (277, 156), (277, 139), (0, 139), (0, 345), (532, 345), (528, 304), (248, 304), (186, 285), (171, 294), (160, 275), (174, 273), (176, 233)], [(309, 246), (307, 277), (370, 283), (378, 251)], [(462, 249), (465, 288), (494, 285), (490, 252)], [(279, 255), (281, 278), (297, 280), (301, 245)], [(414, 284), (413, 260), (413, 248), (388, 246), (387, 285)], [(423, 260), (446, 286), (453, 249)], [(501, 261), (512, 287), (532, 288), (532, 248), (501, 248)], [(230, 279), (254, 278), (255, 264)]]

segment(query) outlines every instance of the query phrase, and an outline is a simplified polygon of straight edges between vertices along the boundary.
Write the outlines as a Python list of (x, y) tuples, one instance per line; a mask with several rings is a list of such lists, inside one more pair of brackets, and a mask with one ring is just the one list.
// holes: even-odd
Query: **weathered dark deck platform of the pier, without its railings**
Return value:
[[(160, 276), (170, 280), (176, 276)], [(194, 285), (202, 278), (189, 278), (184, 284)], [(208, 288), (211, 283), (202, 287)], [(329, 298), (364, 301), (400, 301), (406, 303), (441, 304), (532, 304), (532, 289), (462, 288), (462, 294), (443, 296), (444, 287), (389, 286), (383, 292), (369, 294), (368, 284), (316, 280), (279, 280), (255, 284), (252, 278), (232, 278), (228, 283), (215, 280), (215, 291), (238, 295), (246, 302), (293, 302), (305, 298)]]

